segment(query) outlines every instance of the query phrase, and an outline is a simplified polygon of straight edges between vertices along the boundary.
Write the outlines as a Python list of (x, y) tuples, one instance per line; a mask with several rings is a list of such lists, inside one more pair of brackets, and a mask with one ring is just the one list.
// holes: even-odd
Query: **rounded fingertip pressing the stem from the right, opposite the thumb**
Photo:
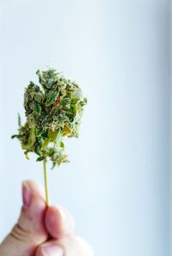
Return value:
[(53, 238), (72, 234), (75, 226), (71, 214), (61, 206), (52, 206), (46, 210), (45, 223)]

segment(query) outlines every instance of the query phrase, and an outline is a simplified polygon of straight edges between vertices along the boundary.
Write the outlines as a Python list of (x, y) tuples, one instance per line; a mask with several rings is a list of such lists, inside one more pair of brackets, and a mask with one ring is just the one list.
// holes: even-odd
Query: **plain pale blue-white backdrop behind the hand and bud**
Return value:
[(17, 220), (21, 183), (43, 184), (10, 136), (23, 92), (46, 65), (88, 97), (71, 160), (49, 170), (53, 204), (68, 208), (95, 255), (169, 256), (168, 0), (0, 0), (0, 239)]

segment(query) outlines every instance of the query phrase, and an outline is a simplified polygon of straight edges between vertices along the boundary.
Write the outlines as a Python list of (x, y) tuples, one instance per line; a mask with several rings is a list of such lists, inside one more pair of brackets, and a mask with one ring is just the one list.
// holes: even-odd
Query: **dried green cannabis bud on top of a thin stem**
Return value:
[[(77, 137), (83, 106), (87, 99), (76, 82), (65, 79), (55, 69), (36, 74), (40, 86), (30, 82), (24, 93), (25, 125), (18, 117), (18, 138), (28, 158), (29, 152), (38, 155), (37, 161), (52, 161), (52, 168), (68, 163), (64, 153), (64, 138)], [(29, 159), (29, 158), (28, 158)]]

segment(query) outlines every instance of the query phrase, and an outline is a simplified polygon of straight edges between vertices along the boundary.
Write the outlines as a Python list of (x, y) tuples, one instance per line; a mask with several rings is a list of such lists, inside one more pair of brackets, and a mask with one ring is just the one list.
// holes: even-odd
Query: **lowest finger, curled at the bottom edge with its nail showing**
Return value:
[(82, 237), (70, 235), (41, 245), (36, 256), (93, 256), (93, 251)]

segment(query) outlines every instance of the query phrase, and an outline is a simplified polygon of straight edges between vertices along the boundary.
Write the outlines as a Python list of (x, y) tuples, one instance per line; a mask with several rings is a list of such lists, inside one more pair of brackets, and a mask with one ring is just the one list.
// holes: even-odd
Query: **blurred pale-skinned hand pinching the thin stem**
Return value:
[(1, 256), (93, 256), (74, 234), (74, 221), (61, 206), (46, 208), (45, 193), (34, 181), (23, 182), (23, 206), (15, 227), (0, 245)]

